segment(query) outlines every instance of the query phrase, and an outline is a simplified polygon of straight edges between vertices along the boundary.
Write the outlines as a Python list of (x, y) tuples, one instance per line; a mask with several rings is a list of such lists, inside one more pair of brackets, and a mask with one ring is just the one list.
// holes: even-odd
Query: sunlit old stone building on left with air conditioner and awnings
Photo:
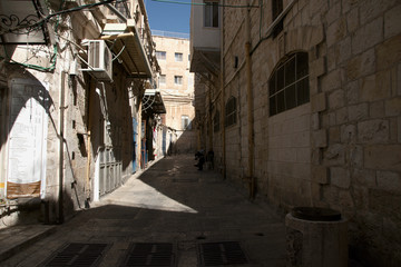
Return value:
[(165, 110), (145, 4), (1, 1), (0, 13), (2, 221), (62, 222), (146, 165)]

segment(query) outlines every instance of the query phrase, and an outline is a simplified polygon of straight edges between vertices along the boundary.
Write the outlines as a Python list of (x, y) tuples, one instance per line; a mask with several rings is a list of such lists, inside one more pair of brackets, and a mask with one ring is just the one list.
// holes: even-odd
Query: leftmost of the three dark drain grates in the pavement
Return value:
[(70, 243), (45, 260), (42, 266), (97, 266), (108, 246), (108, 244)]

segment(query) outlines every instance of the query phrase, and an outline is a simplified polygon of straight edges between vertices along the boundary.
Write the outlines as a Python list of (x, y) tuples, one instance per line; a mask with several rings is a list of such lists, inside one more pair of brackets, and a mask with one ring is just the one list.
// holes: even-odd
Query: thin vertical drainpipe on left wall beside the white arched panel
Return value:
[(59, 191), (58, 191), (58, 218), (57, 222), (62, 224), (63, 222), (63, 121), (65, 121), (65, 90), (66, 90), (66, 76), (67, 72), (61, 72), (61, 87), (60, 87), (60, 105), (59, 105)]

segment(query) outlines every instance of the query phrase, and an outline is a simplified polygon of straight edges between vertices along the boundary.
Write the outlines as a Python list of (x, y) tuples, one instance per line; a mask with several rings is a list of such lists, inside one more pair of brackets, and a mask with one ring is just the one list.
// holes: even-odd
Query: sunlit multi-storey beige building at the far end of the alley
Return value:
[(183, 33), (153, 31), (160, 66), (158, 89), (166, 107), (164, 155), (194, 154), (197, 149), (194, 125), (194, 75), (189, 72), (189, 39)]

